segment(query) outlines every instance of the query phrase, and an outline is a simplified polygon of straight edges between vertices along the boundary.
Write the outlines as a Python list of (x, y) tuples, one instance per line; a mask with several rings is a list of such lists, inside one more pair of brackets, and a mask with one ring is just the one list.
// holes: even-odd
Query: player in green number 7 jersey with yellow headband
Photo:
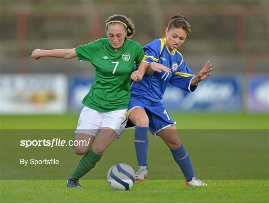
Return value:
[(141, 45), (126, 38), (131, 37), (134, 31), (131, 18), (113, 15), (106, 20), (108, 38), (73, 49), (35, 49), (32, 52), (31, 57), (35, 59), (44, 56), (65, 59), (78, 57), (80, 61), (91, 62), (96, 68), (96, 80), (82, 101), (85, 107), (75, 131), (75, 140), (90, 139), (90, 142), (88, 146), (74, 146), (75, 153), (84, 156), (69, 176), (67, 187), (82, 188), (78, 180), (95, 167), (105, 149), (126, 126), (126, 112), (131, 97), (130, 76), (134, 65), (139, 65), (140, 70), (148, 67), (147, 63), (140, 63), (144, 56)]

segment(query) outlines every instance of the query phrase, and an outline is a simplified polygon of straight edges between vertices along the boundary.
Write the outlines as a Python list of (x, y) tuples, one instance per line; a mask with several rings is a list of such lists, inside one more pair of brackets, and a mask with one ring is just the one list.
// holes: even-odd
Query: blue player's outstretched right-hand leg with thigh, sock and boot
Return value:
[(194, 177), (190, 157), (177, 136), (175, 125), (170, 125), (159, 131), (158, 135), (170, 148), (175, 162), (184, 174), (186, 186), (207, 186), (205, 183)]

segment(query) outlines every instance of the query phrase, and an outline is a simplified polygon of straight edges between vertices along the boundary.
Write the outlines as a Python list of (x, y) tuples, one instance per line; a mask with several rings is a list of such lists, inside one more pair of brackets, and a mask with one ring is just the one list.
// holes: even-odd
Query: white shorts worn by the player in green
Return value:
[(85, 106), (80, 113), (75, 133), (96, 136), (102, 127), (110, 127), (120, 136), (127, 123), (126, 112), (127, 108), (110, 112), (99, 112)]

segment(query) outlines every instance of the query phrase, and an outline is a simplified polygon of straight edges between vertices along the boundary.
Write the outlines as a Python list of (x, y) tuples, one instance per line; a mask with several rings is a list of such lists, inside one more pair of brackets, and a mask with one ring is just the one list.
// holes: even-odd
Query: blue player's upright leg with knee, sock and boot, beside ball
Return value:
[(134, 147), (138, 162), (138, 170), (135, 174), (136, 181), (143, 181), (147, 178), (147, 131), (148, 117), (145, 111), (140, 107), (134, 107), (129, 114), (129, 120), (135, 125)]

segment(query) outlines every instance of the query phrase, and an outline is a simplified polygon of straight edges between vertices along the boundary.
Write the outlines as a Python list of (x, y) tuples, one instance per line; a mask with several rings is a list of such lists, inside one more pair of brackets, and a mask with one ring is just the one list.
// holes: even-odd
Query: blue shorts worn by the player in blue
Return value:
[[(127, 110), (127, 118), (132, 109), (135, 107), (142, 108), (148, 116), (149, 120), (149, 131), (154, 136), (158, 136), (157, 133), (172, 125), (176, 122), (173, 121), (169, 113), (165, 110), (165, 107), (162, 102), (152, 102), (144, 98), (138, 98), (136, 96), (131, 96), (131, 100)], [(128, 120), (126, 128), (133, 127), (134, 124)]]

